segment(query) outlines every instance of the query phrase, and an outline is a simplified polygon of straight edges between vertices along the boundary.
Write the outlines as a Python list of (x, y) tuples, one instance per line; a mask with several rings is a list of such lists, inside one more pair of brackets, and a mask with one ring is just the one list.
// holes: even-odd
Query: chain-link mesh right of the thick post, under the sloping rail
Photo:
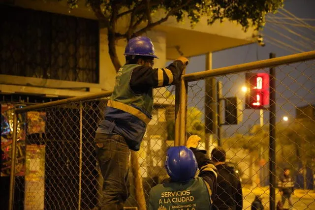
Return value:
[[(275, 67), (276, 203), (281, 200), (278, 180), (288, 168), (295, 189), (291, 200), (297, 210), (315, 209), (314, 67), (314, 60)], [(250, 72), (269, 73), (269, 69)], [(268, 209), (269, 111), (245, 109), (246, 94), (249, 94), (245, 92), (249, 87), (243, 87), (246, 87), (245, 74), (189, 82), (186, 129), (188, 136), (202, 137), (200, 148), (208, 147), (209, 155), (218, 144), (226, 151), (227, 164), (234, 167), (242, 182), (244, 209), (251, 209), (255, 195), (262, 198)], [(236, 119), (231, 115), (242, 121), (234, 124)], [(221, 187), (219, 183), (218, 188)], [(287, 200), (284, 205), (288, 207)]]

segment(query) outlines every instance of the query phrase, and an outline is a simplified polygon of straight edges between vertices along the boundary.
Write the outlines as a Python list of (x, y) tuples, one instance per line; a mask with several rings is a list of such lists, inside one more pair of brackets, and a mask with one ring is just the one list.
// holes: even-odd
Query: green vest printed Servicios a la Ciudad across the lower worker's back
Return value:
[(149, 210), (212, 210), (210, 193), (200, 177), (158, 184), (151, 189)]

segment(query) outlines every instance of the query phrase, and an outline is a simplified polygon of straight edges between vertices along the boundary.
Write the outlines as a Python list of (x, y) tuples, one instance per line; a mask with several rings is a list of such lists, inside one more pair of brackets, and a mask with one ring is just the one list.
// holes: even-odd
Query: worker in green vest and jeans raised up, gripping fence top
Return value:
[(96, 130), (95, 150), (103, 177), (101, 210), (121, 210), (129, 196), (129, 149), (138, 151), (153, 109), (153, 88), (178, 83), (188, 59), (153, 68), (158, 59), (152, 41), (139, 36), (128, 41), (126, 64), (116, 75), (105, 119)]

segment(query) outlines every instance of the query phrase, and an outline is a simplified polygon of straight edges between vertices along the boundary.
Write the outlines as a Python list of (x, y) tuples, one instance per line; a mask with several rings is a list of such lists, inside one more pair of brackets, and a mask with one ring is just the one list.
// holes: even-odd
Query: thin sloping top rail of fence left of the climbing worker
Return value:
[(43, 104), (36, 104), (33, 106), (29, 106), (29, 107), (19, 108), (19, 109), (15, 110), (15, 113), (21, 114), (21, 113), (25, 113), (25, 112), (29, 112), (29, 111), (33, 111), (33, 110), (64, 105), (67, 103), (75, 103), (75, 102), (79, 102), (79, 101), (93, 100), (93, 99), (97, 99), (97, 98), (108, 97), (111, 94), (112, 94), (112, 91), (103, 91), (103, 92), (97, 92), (97, 93), (87, 94), (87, 95), (78, 96), (78, 97), (66, 98), (66, 99), (62, 99), (62, 100), (58, 100), (58, 101), (52, 101), (52, 102), (47, 102), (47, 103), (43, 103)]

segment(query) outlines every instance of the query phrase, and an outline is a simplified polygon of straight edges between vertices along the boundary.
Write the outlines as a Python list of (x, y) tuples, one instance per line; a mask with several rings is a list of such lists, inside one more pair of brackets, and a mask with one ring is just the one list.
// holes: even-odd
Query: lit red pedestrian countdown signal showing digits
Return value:
[(246, 73), (246, 109), (264, 109), (269, 105), (269, 74)]

